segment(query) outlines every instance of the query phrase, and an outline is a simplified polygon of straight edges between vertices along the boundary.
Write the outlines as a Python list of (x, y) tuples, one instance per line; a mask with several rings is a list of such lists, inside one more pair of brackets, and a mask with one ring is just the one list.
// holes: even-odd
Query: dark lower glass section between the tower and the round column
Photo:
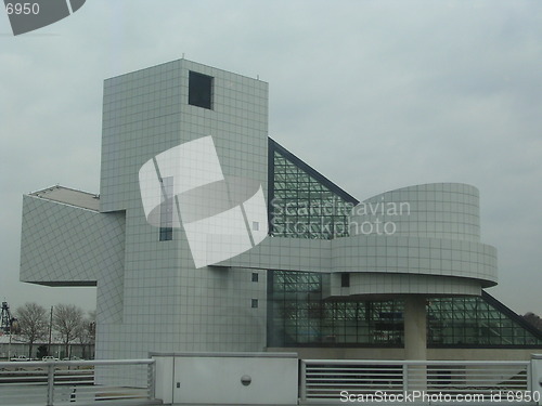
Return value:
[(403, 302), (324, 300), (328, 275), (268, 273), (269, 346), (402, 346)]

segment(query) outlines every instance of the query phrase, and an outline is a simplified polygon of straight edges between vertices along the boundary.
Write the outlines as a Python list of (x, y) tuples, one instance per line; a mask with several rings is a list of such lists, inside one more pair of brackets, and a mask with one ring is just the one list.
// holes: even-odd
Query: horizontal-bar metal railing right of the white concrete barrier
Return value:
[[(302, 403), (535, 404), (530, 362), (300, 362)], [(538, 393), (540, 396), (540, 393)]]

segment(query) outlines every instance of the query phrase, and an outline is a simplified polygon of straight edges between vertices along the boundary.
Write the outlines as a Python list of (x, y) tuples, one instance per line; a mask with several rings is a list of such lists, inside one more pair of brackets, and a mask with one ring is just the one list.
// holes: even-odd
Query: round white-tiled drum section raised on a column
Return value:
[(350, 237), (332, 241), (330, 296), (480, 294), (496, 285), (496, 249), (480, 243), (479, 193), (460, 183), (386, 192), (359, 204)]

